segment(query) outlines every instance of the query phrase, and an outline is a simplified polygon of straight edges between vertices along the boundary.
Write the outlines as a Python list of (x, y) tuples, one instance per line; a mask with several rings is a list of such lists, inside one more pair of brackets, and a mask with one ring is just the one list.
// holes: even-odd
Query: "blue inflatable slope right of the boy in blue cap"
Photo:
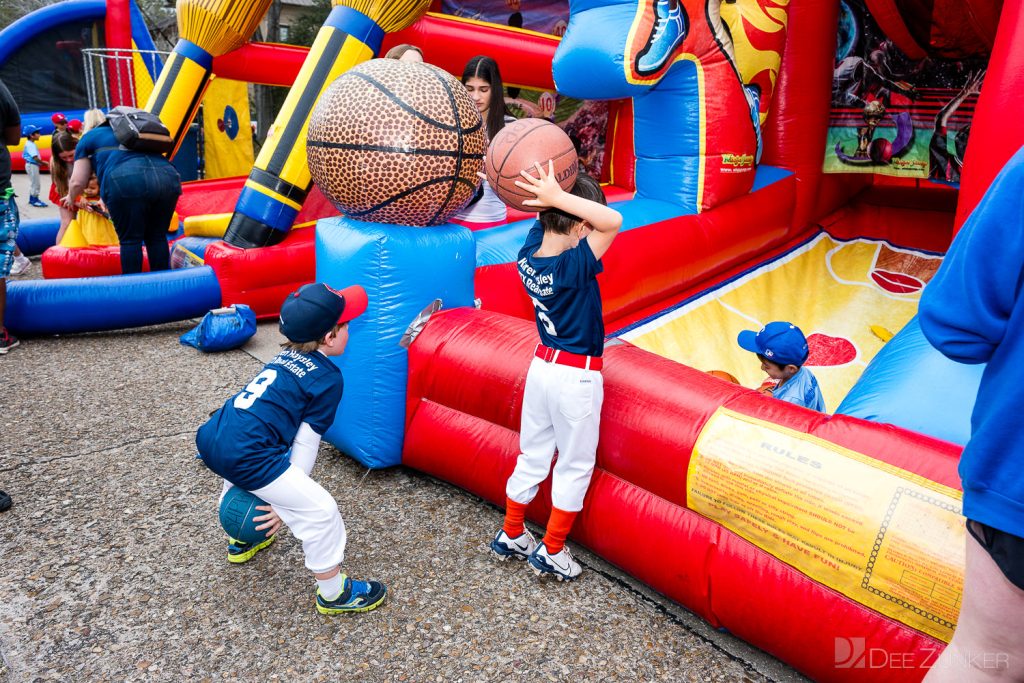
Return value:
[(836, 411), (964, 445), (985, 366), (964, 366), (936, 351), (915, 315), (882, 347)]

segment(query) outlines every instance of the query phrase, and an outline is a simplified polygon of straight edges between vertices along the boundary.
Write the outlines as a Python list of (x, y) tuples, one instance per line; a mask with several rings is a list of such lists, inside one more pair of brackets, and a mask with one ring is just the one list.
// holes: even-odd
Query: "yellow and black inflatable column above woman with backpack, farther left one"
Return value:
[(181, 38), (160, 72), (145, 110), (160, 117), (174, 137), (173, 157), (188, 132), (210, 83), (213, 58), (242, 47), (256, 31), (271, 0), (178, 0)]

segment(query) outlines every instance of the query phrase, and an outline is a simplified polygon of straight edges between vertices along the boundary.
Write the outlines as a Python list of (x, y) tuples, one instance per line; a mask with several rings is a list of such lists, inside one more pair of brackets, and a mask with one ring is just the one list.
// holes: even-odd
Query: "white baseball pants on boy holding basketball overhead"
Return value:
[(534, 358), (526, 374), (519, 428), (519, 459), (505, 486), (516, 503), (529, 503), (551, 470), (551, 503), (579, 512), (590, 486), (604, 402), (600, 372)]

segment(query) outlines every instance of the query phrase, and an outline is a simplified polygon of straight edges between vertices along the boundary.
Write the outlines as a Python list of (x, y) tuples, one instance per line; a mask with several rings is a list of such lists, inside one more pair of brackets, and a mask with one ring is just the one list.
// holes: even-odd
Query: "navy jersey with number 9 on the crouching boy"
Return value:
[(343, 387), (341, 371), (324, 354), (285, 349), (199, 428), (199, 457), (234, 485), (261, 488), (288, 469), (303, 422), (324, 435)]

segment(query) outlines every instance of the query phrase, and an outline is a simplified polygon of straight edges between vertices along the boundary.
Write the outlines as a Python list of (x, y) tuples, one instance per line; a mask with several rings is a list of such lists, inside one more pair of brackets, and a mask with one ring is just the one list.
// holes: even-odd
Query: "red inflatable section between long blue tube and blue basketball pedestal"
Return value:
[(245, 303), (260, 319), (276, 316), (285, 297), (316, 279), (313, 230), (290, 230), (280, 244), (260, 249), (225, 242), (207, 247), (205, 262), (217, 275), (223, 305)]

